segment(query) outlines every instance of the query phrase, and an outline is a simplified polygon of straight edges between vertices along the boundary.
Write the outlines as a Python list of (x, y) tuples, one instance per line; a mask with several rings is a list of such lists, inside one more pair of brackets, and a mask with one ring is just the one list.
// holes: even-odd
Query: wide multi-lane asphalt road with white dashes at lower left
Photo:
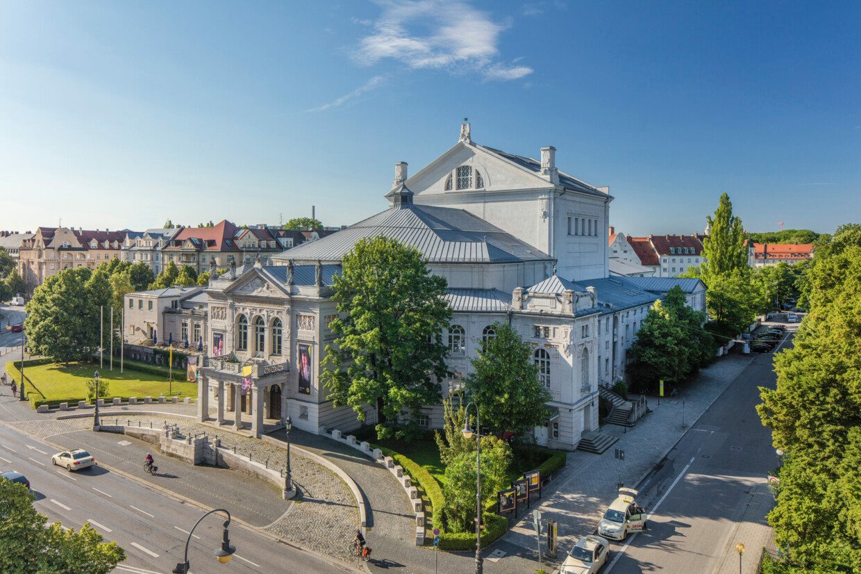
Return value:
[[(117, 572), (170, 572), (182, 562), (189, 531), (205, 514), (201, 508), (101, 466), (70, 473), (51, 464), (54, 452), (52, 446), (0, 425), (0, 471), (28, 477), (35, 506), (49, 521), (76, 529), (89, 521), (105, 540), (115, 540), (127, 554)], [(195, 530), (189, 545), (192, 572), (342, 571), (235, 522), (230, 540), (236, 554), (228, 565), (219, 565), (213, 552), (220, 547), (223, 521), (223, 514), (209, 515)]]

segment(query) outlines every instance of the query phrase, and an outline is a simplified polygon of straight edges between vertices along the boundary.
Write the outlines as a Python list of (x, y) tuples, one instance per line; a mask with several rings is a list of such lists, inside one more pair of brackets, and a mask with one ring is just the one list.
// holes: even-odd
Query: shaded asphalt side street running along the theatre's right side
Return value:
[(612, 543), (603, 574), (709, 574), (720, 567), (753, 486), (777, 466), (771, 431), (755, 409), (758, 387), (777, 381), (773, 354), (754, 357), (640, 485), (639, 500), (653, 512), (649, 529), (629, 537), (628, 546)]

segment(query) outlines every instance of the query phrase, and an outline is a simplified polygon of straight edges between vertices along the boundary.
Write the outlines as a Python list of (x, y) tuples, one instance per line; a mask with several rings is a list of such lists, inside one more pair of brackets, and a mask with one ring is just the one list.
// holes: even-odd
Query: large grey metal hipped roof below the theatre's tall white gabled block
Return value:
[(340, 261), (359, 240), (389, 237), (416, 247), (431, 263), (517, 263), (550, 256), (464, 211), (406, 204), (387, 209), (338, 233), (272, 257), (286, 261)]

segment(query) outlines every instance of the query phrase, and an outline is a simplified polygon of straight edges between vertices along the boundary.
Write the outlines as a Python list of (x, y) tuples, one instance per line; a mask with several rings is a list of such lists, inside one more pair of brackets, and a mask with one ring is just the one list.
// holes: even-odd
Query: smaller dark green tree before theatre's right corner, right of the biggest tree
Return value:
[(508, 323), (493, 323), (492, 329), (495, 336), (484, 340), (478, 356), (470, 360), (473, 371), (465, 384), (483, 424), (495, 433), (521, 435), (543, 423), (552, 397), (538, 381), (532, 346)]

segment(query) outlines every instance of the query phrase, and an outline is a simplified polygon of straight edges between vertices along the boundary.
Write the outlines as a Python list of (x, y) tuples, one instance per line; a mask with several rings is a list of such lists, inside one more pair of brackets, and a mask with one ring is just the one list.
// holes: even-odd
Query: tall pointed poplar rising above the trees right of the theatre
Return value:
[(712, 289), (712, 279), (747, 267), (747, 247), (741, 218), (733, 215), (733, 204), (724, 193), (715, 217), (706, 216), (709, 234), (703, 239), (704, 262), (700, 265), (703, 282)]

